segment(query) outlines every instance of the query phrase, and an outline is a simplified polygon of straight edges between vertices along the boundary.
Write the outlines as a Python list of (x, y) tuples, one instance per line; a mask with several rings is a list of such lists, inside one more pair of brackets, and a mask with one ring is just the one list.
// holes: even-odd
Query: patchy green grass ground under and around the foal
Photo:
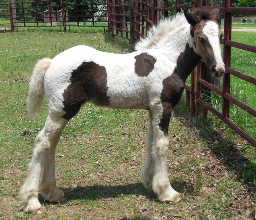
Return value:
[[(0, 33), (0, 219), (255, 219), (255, 148), (211, 115), (207, 121), (190, 118), (185, 98), (174, 109), (169, 127), (168, 170), (172, 186), (182, 194), (180, 202), (160, 203), (142, 186), (147, 112), (86, 104), (66, 126), (55, 156), (57, 184), (66, 202), (49, 204), (40, 197), (42, 214), (22, 212), (18, 191), (34, 138), (48, 114), (45, 101), (35, 118), (26, 113), (36, 61), (78, 44), (132, 51), (102, 29), (79, 30)], [(246, 42), (253, 36), (233, 33)], [(256, 73), (255, 54), (234, 50), (232, 56), (232, 67)], [(238, 95), (244, 90), (248, 104), (256, 107), (255, 87), (237, 90)]]

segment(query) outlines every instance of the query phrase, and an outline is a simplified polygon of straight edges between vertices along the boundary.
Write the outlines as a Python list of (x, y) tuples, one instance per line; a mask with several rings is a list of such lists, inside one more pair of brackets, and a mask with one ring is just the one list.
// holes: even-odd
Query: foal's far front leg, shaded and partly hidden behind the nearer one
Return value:
[(146, 161), (142, 168), (141, 176), (143, 185), (147, 189), (152, 189), (152, 178), (154, 175), (154, 161), (152, 159), (152, 144), (153, 144), (153, 126), (152, 126), (152, 113), (148, 111), (149, 129), (146, 139)]

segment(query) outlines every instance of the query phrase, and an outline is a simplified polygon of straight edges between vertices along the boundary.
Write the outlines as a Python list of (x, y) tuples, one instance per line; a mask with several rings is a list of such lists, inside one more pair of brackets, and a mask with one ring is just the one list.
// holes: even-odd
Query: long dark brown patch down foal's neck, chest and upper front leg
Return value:
[(162, 113), (159, 127), (166, 135), (168, 134), (172, 108), (180, 102), (185, 81), (200, 59), (201, 57), (187, 44), (185, 51), (182, 52), (177, 59), (177, 66), (174, 72), (162, 82), (163, 89), (160, 98), (164, 112)]

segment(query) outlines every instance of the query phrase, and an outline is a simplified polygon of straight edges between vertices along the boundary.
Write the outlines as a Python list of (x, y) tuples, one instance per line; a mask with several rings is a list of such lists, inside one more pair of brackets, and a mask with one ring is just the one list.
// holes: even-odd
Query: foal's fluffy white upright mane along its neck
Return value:
[(165, 18), (157, 26), (153, 26), (147, 33), (147, 37), (135, 45), (136, 50), (147, 50), (158, 48), (156, 45), (163, 39), (169, 37), (174, 30), (187, 26), (188, 22), (182, 13), (176, 14), (172, 18)]

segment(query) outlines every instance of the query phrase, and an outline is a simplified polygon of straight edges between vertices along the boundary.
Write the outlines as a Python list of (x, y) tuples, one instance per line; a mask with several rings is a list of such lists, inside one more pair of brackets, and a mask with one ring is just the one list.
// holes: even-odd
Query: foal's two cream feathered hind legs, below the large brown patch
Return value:
[(43, 130), (36, 137), (28, 175), (20, 191), (26, 212), (41, 209), (41, 204), (38, 201), (39, 187), (48, 198), (59, 200), (64, 197), (63, 192), (57, 188), (55, 182), (54, 151), (67, 122), (68, 120), (59, 115), (49, 113)]

